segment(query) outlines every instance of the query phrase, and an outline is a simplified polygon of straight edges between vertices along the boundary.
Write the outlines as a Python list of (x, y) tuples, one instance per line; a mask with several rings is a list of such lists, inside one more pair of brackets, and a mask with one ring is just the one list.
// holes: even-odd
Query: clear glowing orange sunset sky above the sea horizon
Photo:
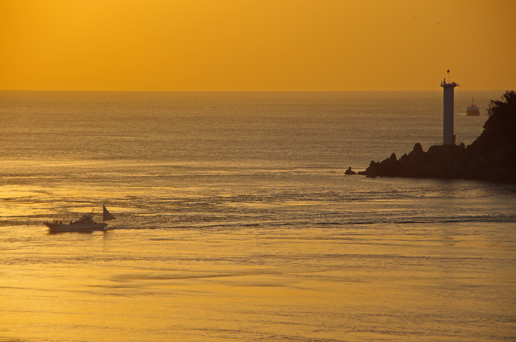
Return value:
[[(516, 1), (0, 0), (0, 89), (516, 88)], [(415, 18), (414, 18), (415, 17)]]

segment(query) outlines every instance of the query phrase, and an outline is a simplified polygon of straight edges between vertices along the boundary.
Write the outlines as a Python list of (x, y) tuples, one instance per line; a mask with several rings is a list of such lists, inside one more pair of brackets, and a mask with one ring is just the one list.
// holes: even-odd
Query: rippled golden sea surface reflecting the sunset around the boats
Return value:
[(0, 121), (2, 341), (516, 339), (516, 186), (344, 175), (440, 143), (440, 91), (0, 91)]

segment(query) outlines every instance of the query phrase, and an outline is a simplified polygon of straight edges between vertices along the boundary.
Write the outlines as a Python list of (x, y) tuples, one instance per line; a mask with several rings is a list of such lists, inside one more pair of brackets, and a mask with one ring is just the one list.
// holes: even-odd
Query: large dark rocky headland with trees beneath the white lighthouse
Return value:
[(504, 101), (491, 100), (482, 134), (469, 146), (436, 145), (427, 152), (420, 143), (397, 159), (371, 161), (360, 175), (369, 177), (462, 178), (516, 183), (516, 92)]

